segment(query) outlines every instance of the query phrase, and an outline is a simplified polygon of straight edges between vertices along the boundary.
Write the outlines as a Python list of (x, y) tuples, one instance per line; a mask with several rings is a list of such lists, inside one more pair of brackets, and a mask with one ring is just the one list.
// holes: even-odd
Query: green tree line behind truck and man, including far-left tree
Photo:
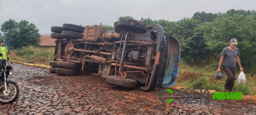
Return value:
[[(130, 16), (119, 17), (134, 19)], [(141, 18), (148, 26), (160, 24), (165, 32), (180, 40), (182, 48), (182, 58), (191, 63), (195, 56), (207, 56), (213, 52), (220, 57), (224, 47), (229, 45), (232, 38), (238, 40), (241, 56), (241, 64), (245, 70), (254, 70), (256, 66), (256, 12), (254, 10), (230, 9), (226, 13), (205, 13), (196, 12), (193, 17), (181, 19), (179, 21), (169, 21), (165, 19), (152, 20)], [(80, 25), (82, 26), (82, 25)], [(113, 31), (113, 26), (104, 25), (107, 30)], [(0, 39), (4, 39), (11, 48), (22, 46), (39, 46), (39, 30), (33, 23), (26, 20), (15, 22), (7, 20), (1, 24)], [(193, 61), (193, 63), (198, 63)]]

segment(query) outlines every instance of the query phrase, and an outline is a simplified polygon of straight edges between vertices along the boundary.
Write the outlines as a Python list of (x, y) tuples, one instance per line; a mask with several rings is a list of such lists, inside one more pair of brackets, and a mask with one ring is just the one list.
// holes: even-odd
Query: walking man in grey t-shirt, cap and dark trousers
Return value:
[(221, 59), (219, 60), (219, 66), (217, 69), (217, 73), (221, 72), (221, 64), (223, 65), (223, 70), (228, 76), (226, 83), (224, 85), (224, 91), (230, 93), (235, 80), (236, 80), (236, 63), (238, 64), (240, 71), (243, 71), (241, 66), (241, 62), (239, 59), (240, 52), (239, 49), (236, 48), (237, 39), (232, 38), (229, 42), (230, 46), (223, 48), (221, 52)]

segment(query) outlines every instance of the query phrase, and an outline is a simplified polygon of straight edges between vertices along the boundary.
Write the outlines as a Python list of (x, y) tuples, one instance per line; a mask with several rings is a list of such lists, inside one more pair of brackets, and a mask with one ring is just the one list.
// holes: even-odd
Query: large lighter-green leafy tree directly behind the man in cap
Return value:
[(212, 31), (204, 35), (206, 48), (214, 51), (218, 58), (223, 48), (229, 46), (230, 39), (236, 38), (243, 67), (249, 70), (256, 64), (256, 49), (254, 48), (256, 46), (256, 20), (239, 13), (232, 16), (228, 14), (223, 18), (216, 18), (207, 25), (212, 27)]

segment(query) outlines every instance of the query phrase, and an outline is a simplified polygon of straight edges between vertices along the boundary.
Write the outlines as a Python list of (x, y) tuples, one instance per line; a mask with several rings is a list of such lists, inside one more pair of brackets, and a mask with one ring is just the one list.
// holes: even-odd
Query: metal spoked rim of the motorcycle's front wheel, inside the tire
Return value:
[[(13, 86), (14, 88), (9, 87), (9, 85)], [(7, 89), (8, 89), (7, 91), (11, 91), (11, 93), (10, 93), (8, 96), (5, 96), (5, 95), (4, 95), (5, 86), (2, 85), (2, 86), (0, 87), (0, 91), (2, 92), (2, 93), (0, 93), (0, 100), (3, 101), (3, 102), (7, 102), (7, 101), (12, 100), (13, 98), (15, 98), (15, 95), (17, 94), (17, 89), (16, 89), (16, 87), (15, 87), (13, 84), (7, 84)], [(14, 91), (13, 91), (13, 90), (14, 90)], [(15, 93), (13, 94), (13, 92), (15, 92)], [(13, 95), (13, 96), (12, 96), (12, 95)], [(11, 97), (11, 96), (12, 96), (11, 99), (6, 99), (6, 98)]]

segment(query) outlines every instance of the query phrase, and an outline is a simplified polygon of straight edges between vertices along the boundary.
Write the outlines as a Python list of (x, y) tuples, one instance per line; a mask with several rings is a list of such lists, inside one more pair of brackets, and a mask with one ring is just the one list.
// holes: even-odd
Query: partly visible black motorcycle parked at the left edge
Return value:
[[(3, 54), (0, 53), (0, 57), (2, 56)], [(9, 61), (7, 63), (9, 63)], [(6, 66), (6, 64), (0, 61), (0, 102), (4, 104), (13, 102), (19, 96), (19, 87), (17, 83), (8, 80), (8, 76), (13, 74), (13, 67), (11, 66), (12, 63), (13, 62)], [(12, 86), (14, 88), (11, 88)], [(13, 91), (11, 91), (12, 89)], [(11, 93), (13, 92), (14, 95), (11, 96)]]

